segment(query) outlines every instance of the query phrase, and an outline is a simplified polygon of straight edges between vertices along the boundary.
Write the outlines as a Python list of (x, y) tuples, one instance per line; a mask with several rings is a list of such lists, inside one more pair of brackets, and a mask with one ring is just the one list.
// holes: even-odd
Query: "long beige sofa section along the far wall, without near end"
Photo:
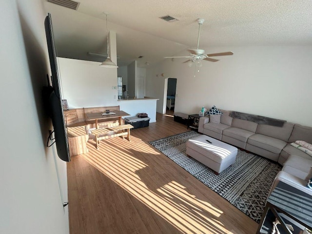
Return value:
[(209, 122), (209, 116), (200, 117), (198, 132), (222, 140), (254, 154), (264, 156), (281, 165), (290, 155), (311, 156), (290, 143), (304, 140), (312, 144), (312, 127), (285, 122), (282, 127), (258, 124), (233, 118), (231, 111), (220, 110), (220, 123)]

